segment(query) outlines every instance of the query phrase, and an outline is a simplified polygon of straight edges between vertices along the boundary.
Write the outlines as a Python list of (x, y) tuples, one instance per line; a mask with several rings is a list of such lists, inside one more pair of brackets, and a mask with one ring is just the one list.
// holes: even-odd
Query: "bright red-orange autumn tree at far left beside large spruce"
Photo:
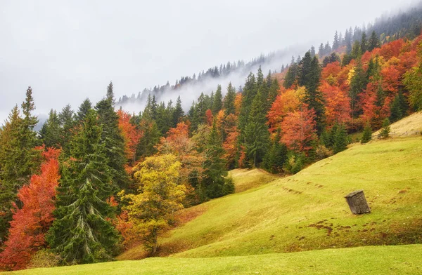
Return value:
[(13, 220), (6, 248), (0, 254), (4, 269), (24, 269), (32, 255), (46, 246), (44, 236), (53, 222), (54, 199), (60, 175), (58, 174), (59, 149), (43, 153), (41, 173), (32, 175), (29, 185), (18, 192), (22, 208), (14, 203)]

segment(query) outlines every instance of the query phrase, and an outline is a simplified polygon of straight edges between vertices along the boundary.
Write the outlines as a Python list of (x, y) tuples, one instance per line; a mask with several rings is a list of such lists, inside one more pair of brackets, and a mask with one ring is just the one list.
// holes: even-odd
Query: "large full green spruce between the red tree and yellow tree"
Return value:
[(47, 241), (69, 263), (110, 260), (119, 239), (106, 203), (113, 194), (102, 128), (90, 109), (72, 140), (70, 159), (61, 167), (56, 210)]

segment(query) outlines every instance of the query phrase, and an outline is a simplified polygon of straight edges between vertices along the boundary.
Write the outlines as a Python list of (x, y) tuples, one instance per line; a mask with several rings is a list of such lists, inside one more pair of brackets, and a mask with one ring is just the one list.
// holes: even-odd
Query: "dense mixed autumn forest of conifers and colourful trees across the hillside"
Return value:
[(295, 174), (355, 133), (388, 137), (422, 110), (421, 29), (402, 29), (336, 32), (279, 73), (202, 93), (188, 112), (154, 93), (125, 112), (110, 82), (102, 100), (51, 109), (35, 132), (27, 88), (0, 130), (1, 269), (104, 262), (134, 243), (153, 256), (178, 210), (234, 192), (228, 170)]

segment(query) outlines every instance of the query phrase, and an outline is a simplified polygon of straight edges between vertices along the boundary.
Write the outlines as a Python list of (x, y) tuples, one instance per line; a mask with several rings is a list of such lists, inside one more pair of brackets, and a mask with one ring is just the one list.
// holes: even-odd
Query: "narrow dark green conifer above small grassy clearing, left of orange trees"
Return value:
[(246, 153), (253, 166), (257, 167), (267, 153), (269, 145), (269, 131), (267, 127), (267, 118), (265, 109), (265, 101), (260, 92), (250, 107), (248, 124), (245, 126), (245, 147)]

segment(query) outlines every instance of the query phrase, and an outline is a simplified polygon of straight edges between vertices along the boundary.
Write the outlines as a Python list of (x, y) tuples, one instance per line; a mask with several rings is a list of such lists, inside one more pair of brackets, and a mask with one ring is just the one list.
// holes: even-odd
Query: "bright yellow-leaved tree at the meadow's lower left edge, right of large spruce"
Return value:
[(134, 167), (139, 194), (127, 194), (129, 229), (134, 239), (141, 239), (146, 250), (155, 255), (158, 236), (170, 227), (174, 213), (184, 208), (181, 203), (186, 187), (179, 184), (181, 163), (172, 154), (150, 156)]

